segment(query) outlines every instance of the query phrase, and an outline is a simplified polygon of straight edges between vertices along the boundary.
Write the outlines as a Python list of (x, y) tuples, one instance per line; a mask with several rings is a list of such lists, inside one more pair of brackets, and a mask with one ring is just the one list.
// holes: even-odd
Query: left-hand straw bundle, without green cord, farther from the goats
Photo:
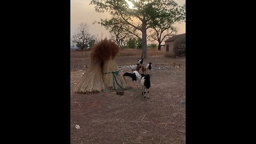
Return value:
[(91, 53), (91, 66), (76, 85), (75, 93), (94, 93), (104, 90), (102, 67), (103, 61), (97, 49), (93, 49)]

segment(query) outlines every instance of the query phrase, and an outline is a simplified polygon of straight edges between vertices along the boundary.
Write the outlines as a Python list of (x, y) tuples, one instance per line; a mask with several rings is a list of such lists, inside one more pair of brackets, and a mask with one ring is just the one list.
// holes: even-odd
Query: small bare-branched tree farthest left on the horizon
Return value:
[(71, 37), (71, 42), (83, 50), (94, 45), (97, 42), (97, 38), (89, 34), (86, 23), (80, 23), (76, 33)]

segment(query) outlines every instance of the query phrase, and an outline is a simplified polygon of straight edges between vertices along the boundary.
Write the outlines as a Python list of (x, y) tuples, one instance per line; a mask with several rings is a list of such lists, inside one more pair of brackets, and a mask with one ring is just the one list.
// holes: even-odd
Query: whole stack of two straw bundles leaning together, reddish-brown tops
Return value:
[(105, 89), (134, 88), (130, 78), (123, 76), (115, 61), (119, 46), (106, 38), (93, 46), (91, 65), (75, 87), (75, 93), (94, 93)]

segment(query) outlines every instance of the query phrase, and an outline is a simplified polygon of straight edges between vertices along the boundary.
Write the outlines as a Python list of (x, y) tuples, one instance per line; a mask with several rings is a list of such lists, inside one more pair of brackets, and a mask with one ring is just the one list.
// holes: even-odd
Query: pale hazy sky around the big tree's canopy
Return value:
[[(174, 0), (178, 5), (185, 4), (185, 0)], [(111, 19), (111, 15), (108, 12), (99, 13), (95, 12), (94, 5), (89, 5), (91, 0), (70, 0), (70, 39), (76, 32), (78, 24), (81, 22), (87, 23), (89, 33), (95, 35), (98, 38), (107, 37), (110, 38), (108, 30), (99, 25), (98, 23), (92, 24), (94, 21), (100, 21), (100, 19)], [(177, 24), (178, 33), (186, 33), (186, 23)], [(71, 42), (71, 40), (70, 40)]]

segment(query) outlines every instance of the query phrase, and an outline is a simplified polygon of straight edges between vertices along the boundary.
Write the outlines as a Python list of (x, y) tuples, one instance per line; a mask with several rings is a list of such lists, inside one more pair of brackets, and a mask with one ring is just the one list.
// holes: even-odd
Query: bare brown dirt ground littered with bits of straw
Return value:
[[(124, 72), (138, 59), (115, 58)], [(186, 143), (186, 57), (144, 60), (153, 63), (149, 99), (141, 95), (141, 89), (124, 95), (74, 94), (90, 59), (70, 62), (71, 143)]]

